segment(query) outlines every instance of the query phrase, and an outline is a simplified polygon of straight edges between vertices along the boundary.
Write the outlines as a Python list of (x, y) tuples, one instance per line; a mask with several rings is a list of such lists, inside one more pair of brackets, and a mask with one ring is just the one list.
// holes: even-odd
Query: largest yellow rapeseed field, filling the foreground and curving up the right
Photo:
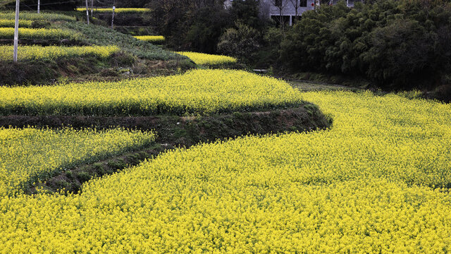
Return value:
[[(223, 77), (219, 77), (223, 78)], [(0, 198), (0, 253), (450, 253), (451, 105), (308, 92), (330, 130), (160, 155)]]

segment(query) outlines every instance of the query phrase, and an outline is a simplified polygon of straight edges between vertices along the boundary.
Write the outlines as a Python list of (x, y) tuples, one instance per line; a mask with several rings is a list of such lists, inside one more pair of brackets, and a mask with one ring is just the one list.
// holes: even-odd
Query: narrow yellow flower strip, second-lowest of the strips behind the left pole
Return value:
[[(19, 28), (19, 39), (72, 39), (78, 40), (82, 35), (62, 29)], [(0, 39), (13, 39), (14, 28), (0, 28)]]

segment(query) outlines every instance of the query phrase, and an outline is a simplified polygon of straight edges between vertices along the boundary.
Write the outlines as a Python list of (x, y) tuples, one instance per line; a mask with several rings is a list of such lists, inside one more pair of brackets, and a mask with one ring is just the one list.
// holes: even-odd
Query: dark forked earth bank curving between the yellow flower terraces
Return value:
[(37, 188), (57, 192), (64, 189), (69, 193), (80, 191), (82, 183), (91, 177), (111, 174), (125, 167), (137, 165), (165, 150), (175, 147), (190, 147), (197, 143), (235, 138), (237, 136), (286, 131), (312, 131), (329, 128), (331, 120), (324, 116), (314, 104), (306, 103), (294, 109), (273, 110), (252, 113), (234, 113), (214, 116), (0, 116), (0, 126), (37, 126), (42, 128), (86, 128), (108, 129), (112, 126), (155, 131), (156, 144), (144, 150), (106, 159), (103, 162), (70, 168), (61, 174), (45, 179), (45, 183), (29, 186), (27, 193), (36, 193)]

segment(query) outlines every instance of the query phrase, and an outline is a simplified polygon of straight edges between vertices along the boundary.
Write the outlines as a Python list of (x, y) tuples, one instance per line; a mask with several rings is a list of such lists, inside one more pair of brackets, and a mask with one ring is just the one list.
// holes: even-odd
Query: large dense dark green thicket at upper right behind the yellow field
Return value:
[(365, 76), (390, 90), (431, 88), (451, 70), (451, 4), (445, 1), (344, 2), (308, 11), (280, 44), (296, 71)]

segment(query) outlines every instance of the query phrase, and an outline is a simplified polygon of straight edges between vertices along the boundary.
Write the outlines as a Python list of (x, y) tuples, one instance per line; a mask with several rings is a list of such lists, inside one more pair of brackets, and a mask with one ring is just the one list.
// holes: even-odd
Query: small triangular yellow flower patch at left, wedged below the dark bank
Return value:
[(0, 197), (12, 195), (24, 183), (58, 173), (82, 162), (152, 143), (153, 133), (111, 129), (81, 131), (0, 128)]

